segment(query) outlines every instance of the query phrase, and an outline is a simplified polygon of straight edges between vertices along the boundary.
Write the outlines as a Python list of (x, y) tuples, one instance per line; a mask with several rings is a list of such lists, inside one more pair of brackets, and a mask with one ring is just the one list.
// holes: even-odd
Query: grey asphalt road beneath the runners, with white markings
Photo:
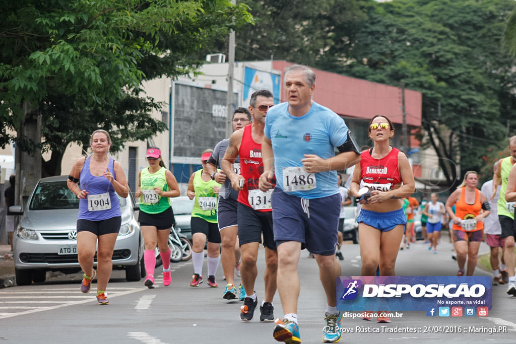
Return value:
[[(397, 275), (454, 275), (451, 244), (443, 238), (439, 253), (432, 254), (418, 242), (399, 252)], [(481, 252), (488, 248), (482, 243)], [(344, 245), (343, 275), (360, 275), (359, 245)], [(314, 259), (301, 253), (299, 326), (303, 343), (320, 343), (324, 326), (325, 296)], [(263, 250), (260, 250), (256, 292), (263, 298)], [(40, 285), (0, 289), (0, 339), (12, 343), (273, 343), (273, 323), (260, 323), (259, 310), (249, 323), (239, 320), (238, 301), (222, 299), (222, 270), (219, 287), (206, 283), (189, 286), (191, 261), (172, 265), (172, 284), (148, 289), (141, 282), (125, 282), (123, 271), (114, 271), (108, 285), (110, 304), (96, 304), (94, 292), (80, 293), (80, 275), (53, 277)], [(204, 265), (206, 269), (206, 264)], [(156, 270), (156, 281), (160, 281)], [(476, 270), (476, 275), (489, 275)], [(236, 279), (239, 281), (238, 277)], [(96, 284), (93, 284), (93, 289)], [(427, 317), (424, 312), (399, 312), (390, 324), (345, 319), (341, 342), (450, 343), (516, 342), (516, 298), (506, 286), (493, 287), (493, 307), (486, 318)], [(279, 296), (275, 316), (283, 315)], [(406, 329), (415, 332), (404, 333)], [(405, 330), (404, 330), (405, 329)], [(460, 329), (460, 330), (459, 330)], [(493, 329), (495, 333), (489, 333)], [(350, 331), (353, 331), (350, 333)], [(461, 331), (458, 333), (458, 331)], [(476, 331), (476, 332), (473, 332)], [(499, 331), (499, 332), (498, 332)]]

